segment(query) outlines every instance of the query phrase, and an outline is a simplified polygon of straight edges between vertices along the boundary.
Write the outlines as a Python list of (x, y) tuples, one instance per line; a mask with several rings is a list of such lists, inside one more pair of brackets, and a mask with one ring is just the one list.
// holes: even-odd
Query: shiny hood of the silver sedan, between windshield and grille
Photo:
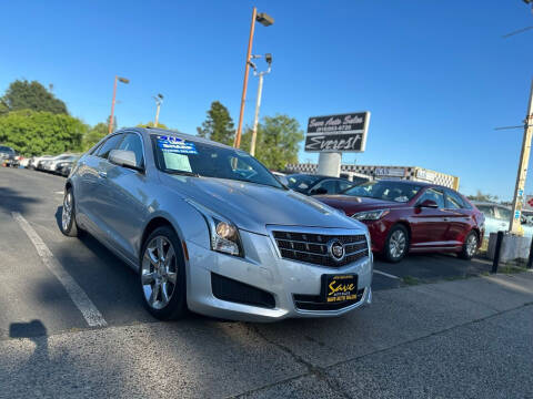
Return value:
[(359, 228), (365, 227), (313, 198), (270, 186), (223, 178), (161, 174), (161, 181), (229, 218), (239, 228), (268, 234), (268, 225)]

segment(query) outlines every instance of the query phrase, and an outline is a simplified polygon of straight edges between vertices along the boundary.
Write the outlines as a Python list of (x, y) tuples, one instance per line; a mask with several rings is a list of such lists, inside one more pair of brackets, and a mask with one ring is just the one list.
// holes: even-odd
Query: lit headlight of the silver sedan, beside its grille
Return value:
[(185, 201), (205, 218), (211, 238), (211, 249), (234, 256), (242, 257), (244, 255), (239, 229), (233, 223), (192, 200)]

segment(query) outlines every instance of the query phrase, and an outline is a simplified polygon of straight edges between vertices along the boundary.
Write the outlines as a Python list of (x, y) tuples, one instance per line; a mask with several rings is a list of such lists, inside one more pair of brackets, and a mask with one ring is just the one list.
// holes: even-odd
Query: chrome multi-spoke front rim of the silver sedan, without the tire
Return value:
[(144, 298), (153, 309), (164, 308), (177, 288), (177, 262), (172, 243), (155, 236), (142, 257), (141, 282)]

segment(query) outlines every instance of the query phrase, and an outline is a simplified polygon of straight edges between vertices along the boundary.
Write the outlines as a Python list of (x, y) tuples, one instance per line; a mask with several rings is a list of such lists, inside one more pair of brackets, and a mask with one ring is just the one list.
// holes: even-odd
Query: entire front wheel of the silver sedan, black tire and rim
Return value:
[(139, 265), (142, 300), (160, 320), (187, 315), (185, 262), (181, 242), (170, 226), (155, 228), (144, 241)]

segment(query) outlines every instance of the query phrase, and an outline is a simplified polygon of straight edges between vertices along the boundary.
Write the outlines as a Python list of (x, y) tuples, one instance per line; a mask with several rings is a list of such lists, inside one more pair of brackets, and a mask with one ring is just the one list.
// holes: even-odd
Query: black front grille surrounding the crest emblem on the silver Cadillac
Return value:
[[(340, 267), (369, 256), (364, 234), (326, 235), (314, 233), (272, 232), (281, 257), (314, 265)], [(345, 256), (341, 262), (328, 253), (328, 243), (339, 239), (344, 244)]]

